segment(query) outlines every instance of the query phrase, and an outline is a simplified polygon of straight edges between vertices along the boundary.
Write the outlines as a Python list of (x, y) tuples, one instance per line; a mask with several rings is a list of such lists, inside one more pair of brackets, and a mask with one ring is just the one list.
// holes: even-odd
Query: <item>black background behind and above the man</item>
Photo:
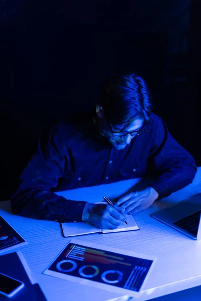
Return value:
[(1, 200), (41, 131), (97, 103), (114, 70), (140, 73), (154, 112), (200, 165), (200, 6), (195, 0), (0, 0)]

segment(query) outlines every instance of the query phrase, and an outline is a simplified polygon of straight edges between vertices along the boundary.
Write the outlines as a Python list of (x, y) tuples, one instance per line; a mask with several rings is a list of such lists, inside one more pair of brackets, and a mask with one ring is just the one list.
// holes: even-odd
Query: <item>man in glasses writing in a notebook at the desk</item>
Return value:
[[(94, 112), (53, 126), (20, 177), (14, 213), (58, 222), (88, 221), (115, 229), (125, 214), (146, 209), (191, 183), (196, 165), (163, 122), (151, 113), (150, 93), (136, 74), (111, 76)], [(66, 200), (54, 192), (107, 184), (146, 174), (150, 187), (109, 205)]]

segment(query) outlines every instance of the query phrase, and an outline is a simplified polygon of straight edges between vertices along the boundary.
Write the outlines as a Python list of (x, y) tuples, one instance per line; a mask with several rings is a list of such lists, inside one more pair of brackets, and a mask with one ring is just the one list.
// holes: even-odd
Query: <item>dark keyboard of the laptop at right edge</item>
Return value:
[(195, 213), (192, 213), (192, 214), (174, 222), (173, 224), (181, 229), (186, 230), (190, 234), (196, 236), (198, 226), (199, 226), (200, 213), (201, 213), (201, 210), (199, 210)]

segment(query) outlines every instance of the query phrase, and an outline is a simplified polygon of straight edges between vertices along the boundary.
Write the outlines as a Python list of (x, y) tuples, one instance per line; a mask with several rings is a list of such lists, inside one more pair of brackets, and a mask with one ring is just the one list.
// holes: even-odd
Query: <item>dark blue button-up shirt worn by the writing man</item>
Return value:
[(92, 112), (83, 113), (54, 125), (39, 139), (11, 204), (14, 213), (31, 218), (81, 221), (86, 202), (55, 192), (156, 174), (149, 186), (163, 198), (191, 183), (195, 173), (193, 158), (157, 115), (151, 114), (146, 133), (117, 150), (99, 134)]

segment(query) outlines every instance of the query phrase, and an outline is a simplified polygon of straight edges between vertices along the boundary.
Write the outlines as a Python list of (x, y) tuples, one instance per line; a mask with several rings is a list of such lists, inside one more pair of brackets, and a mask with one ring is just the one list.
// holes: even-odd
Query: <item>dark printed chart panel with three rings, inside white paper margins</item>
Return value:
[(48, 270), (139, 291), (152, 262), (69, 243)]

